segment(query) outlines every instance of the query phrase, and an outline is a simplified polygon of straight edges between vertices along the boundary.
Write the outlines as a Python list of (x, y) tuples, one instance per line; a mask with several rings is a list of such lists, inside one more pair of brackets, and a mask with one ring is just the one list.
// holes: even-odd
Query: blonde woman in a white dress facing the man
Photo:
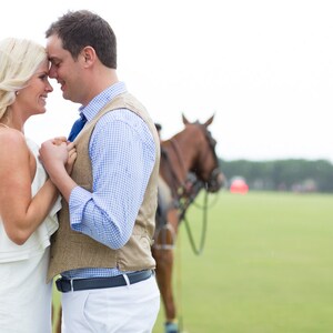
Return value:
[[(48, 73), (43, 47), (13, 38), (0, 42), (0, 331), (6, 333), (52, 331), (52, 284), (46, 274), (61, 205), (38, 159), (39, 147), (23, 129), (31, 115), (46, 112), (53, 90)], [(70, 171), (72, 144), (68, 151)]]

